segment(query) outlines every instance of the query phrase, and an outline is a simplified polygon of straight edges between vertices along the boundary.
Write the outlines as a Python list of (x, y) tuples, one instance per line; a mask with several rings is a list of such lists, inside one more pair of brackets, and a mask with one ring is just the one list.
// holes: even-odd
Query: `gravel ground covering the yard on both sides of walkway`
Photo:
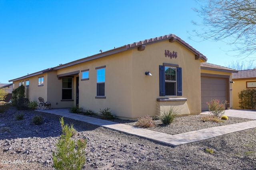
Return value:
[[(24, 119), (15, 120), (18, 113)], [(42, 115), (44, 123), (31, 123), (33, 115)], [(178, 134), (209, 127), (250, 121), (229, 117), (224, 123), (203, 122), (204, 115), (178, 117), (170, 126), (157, 126), (150, 130)], [(88, 170), (256, 170), (256, 128), (214, 137), (178, 147), (169, 147), (97, 125), (64, 118), (74, 123), (78, 135), (74, 139), (87, 139), (86, 163)], [(127, 125), (133, 121), (115, 120)], [(1, 132), (10, 128), (10, 132)], [(31, 110), (13, 108), (0, 114), (0, 169), (50, 170), (52, 152), (60, 136), (59, 116)], [(253, 144), (253, 145), (250, 145)], [(212, 149), (212, 154), (205, 149)], [(251, 155), (245, 152), (254, 151)]]

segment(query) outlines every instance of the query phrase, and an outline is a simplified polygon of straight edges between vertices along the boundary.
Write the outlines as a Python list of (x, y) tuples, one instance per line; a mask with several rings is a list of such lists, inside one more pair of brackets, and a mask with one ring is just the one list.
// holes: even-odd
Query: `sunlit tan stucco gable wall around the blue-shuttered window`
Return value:
[[(165, 50), (177, 52), (178, 57), (165, 57)], [(144, 51), (133, 49), (132, 52), (132, 117), (158, 114), (157, 98), (187, 98), (190, 113), (200, 113), (200, 61), (195, 60), (192, 52), (168, 40), (147, 45)], [(159, 65), (163, 63), (178, 64), (182, 68), (182, 96), (159, 96)], [(152, 76), (145, 76), (146, 71)]]

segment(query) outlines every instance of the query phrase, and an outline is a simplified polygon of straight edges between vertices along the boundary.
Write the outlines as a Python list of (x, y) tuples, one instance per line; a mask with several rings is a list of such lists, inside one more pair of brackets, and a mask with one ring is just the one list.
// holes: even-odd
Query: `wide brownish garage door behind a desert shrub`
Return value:
[(206, 102), (218, 99), (220, 102), (228, 100), (228, 78), (201, 76), (201, 109), (208, 111)]

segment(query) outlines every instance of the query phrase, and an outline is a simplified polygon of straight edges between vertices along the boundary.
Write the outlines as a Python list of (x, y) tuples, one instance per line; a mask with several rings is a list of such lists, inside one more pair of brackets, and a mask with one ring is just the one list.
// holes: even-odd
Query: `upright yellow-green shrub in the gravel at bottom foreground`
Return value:
[(53, 167), (56, 170), (81, 170), (86, 160), (86, 139), (74, 141), (72, 127), (64, 125), (63, 117), (60, 118), (62, 134), (56, 144), (56, 152), (52, 153)]

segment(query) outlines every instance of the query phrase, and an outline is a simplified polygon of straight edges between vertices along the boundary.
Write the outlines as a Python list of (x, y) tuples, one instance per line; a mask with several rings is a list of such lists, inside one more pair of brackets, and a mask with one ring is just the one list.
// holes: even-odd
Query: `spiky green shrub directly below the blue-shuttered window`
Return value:
[(156, 116), (164, 125), (170, 125), (180, 111), (176, 110), (174, 107), (168, 107), (167, 109), (161, 111), (160, 115)]

